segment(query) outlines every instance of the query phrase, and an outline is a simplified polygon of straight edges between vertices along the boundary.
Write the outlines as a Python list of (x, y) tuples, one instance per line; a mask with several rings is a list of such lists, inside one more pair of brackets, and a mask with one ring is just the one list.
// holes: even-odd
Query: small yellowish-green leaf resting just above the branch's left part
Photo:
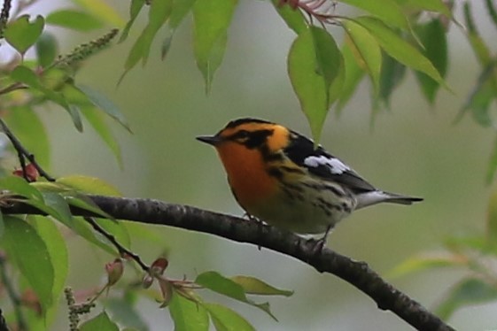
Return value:
[(97, 177), (83, 176), (75, 174), (58, 178), (58, 184), (66, 185), (66, 187), (88, 193), (102, 196), (122, 196), (120, 191), (113, 187), (110, 183), (103, 181)]

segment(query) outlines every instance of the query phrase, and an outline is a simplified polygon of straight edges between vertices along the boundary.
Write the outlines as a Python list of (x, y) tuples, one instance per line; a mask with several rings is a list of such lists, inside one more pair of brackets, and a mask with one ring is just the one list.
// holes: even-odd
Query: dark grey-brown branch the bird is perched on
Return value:
[[(377, 303), (378, 308), (393, 312), (418, 330), (454, 330), (426, 310), (423, 305), (384, 281), (365, 262), (354, 261), (328, 248), (324, 248), (321, 254), (316, 254), (314, 239), (306, 240), (276, 227), (188, 205), (167, 204), (142, 198), (89, 197), (115, 219), (182, 227), (278, 251), (315, 267), (320, 273), (332, 273), (338, 276), (370, 296)], [(0, 210), (4, 213), (42, 213), (27, 204), (14, 204), (2, 207)], [(72, 212), (79, 216), (96, 216), (78, 209), (73, 209)]]

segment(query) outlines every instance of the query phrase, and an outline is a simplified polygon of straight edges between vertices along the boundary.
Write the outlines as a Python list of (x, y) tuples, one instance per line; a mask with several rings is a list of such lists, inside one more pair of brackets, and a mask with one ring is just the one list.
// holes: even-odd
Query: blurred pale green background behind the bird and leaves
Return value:
[[(477, 3), (475, 12), (481, 18), (476, 20), (482, 24), (482, 35), (490, 36)], [(109, 4), (127, 17), (128, 1)], [(340, 4), (340, 14), (353, 13), (343, 10)], [(460, 17), (460, 11), (456, 12)], [(124, 196), (242, 215), (214, 149), (194, 137), (214, 134), (229, 119), (247, 116), (274, 120), (309, 135), (286, 74), (286, 54), (294, 35), (268, 2), (241, 1), (229, 31), (226, 56), (206, 96), (192, 55), (190, 18), (176, 31), (165, 62), (159, 60), (156, 45), (149, 63), (128, 73), (116, 87), (139, 26), (137, 22), (128, 42), (91, 58), (78, 77), (79, 82), (109, 96), (128, 118), (134, 135), (114, 126), (123, 168), (91, 129), (78, 134), (66, 113), (57, 109), (44, 115), (52, 142), (52, 173), (97, 176), (113, 183)], [(338, 28), (330, 28), (340, 34)], [(62, 52), (88, 39), (88, 35), (74, 37), (65, 30), (55, 31), (66, 34)], [(380, 112), (372, 127), (369, 82), (361, 84), (341, 116), (330, 113), (324, 127), (322, 144), (377, 187), (425, 198), (411, 207), (385, 204), (354, 213), (330, 235), (332, 249), (368, 262), (380, 274), (420, 251), (442, 250), (442, 242), (450, 235), (478, 233), (485, 226), (491, 189), (485, 185), (485, 171), (494, 133), (478, 127), (470, 116), (454, 125), (477, 79), (478, 66), (455, 26), (450, 29), (449, 46), (447, 81), (454, 93), (442, 90), (436, 106), (423, 101), (410, 73), (392, 97), (392, 111)], [(391, 312), (378, 310), (368, 296), (346, 282), (275, 252), (168, 227), (134, 227), (131, 235), (134, 250), (148, 261), (169, 251), (169, 277), (192, 279), (217, 270), (228, 276), (256, 276), (295, 290), (290, 298), (268, 298), (279, 322), (252, 307), (224, 301), (260, 330), (411, 329)], [(111, 258), (77, 237), (70, 237), (69, 245), (68, 283), (75, 289), (100, 283), (104, 264)], [(389, 281), (432, 308), (462, 274), (433, 271)], [(217, 296), (206, 298), (219, 300)], [(167, 310), (158, 306), (143, 301), (144, 319), (151, 330), (172, 329)], [(450, 324), (461, 330), (496, 327), (496, 308), (497, 303), (466, 307), (455, 313)], [(65, 327), (61, 315), (56, 328)]]

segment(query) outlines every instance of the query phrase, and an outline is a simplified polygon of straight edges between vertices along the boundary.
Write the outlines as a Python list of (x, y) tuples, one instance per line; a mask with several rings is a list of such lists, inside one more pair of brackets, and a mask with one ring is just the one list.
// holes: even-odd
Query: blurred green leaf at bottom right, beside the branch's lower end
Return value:
[(469, 304), (484, 304), (497, 300), (497, 289), (485, 281), (468, 278), (450, 290), (439, 304), (436, 313), (440, 319), (449, 319), (460, 307)]

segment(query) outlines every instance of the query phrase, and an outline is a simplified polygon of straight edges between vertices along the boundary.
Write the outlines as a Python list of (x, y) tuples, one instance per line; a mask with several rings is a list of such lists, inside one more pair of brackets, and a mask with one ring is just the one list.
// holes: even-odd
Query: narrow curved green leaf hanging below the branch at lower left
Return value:
[(42, 216), (32, 216), (32, 225), (36, 232), (43, 239), (53, 267), (53, 287), (52, 287), (52, 306), (47, 312), (47, 324), (55, 319), (58, 312), (58, 300), (62, 296), (66, 285), (66, 278), (69, 272), (69, 258), (67, 254), (66, 240), (60, 234), (58, 227), (54, 222), (45, 219)]

